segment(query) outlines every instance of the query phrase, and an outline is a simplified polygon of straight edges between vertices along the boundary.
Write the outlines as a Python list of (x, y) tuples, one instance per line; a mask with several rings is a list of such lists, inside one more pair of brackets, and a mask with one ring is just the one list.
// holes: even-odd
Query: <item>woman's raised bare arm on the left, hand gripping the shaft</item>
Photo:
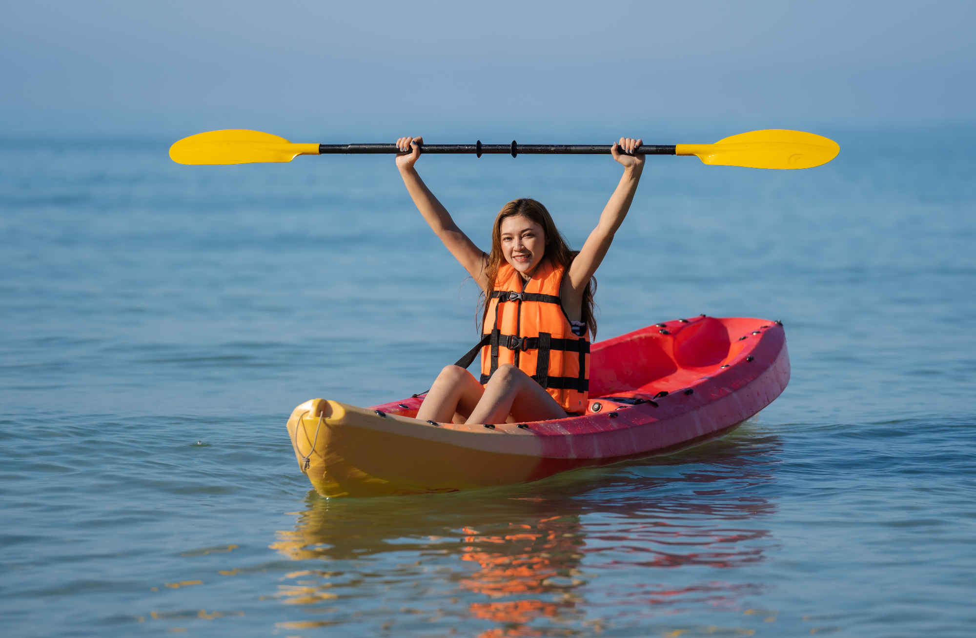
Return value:
[(396, 146), (403, 152), (396, 154), (396, 168), (400, 170), (400, 177), (407, 186), (407, 191), (414, 200), (417, 210), (421, 212), (430, 228), (444, 242), (451, 255), (465, 266), (478, 287), (484, 289), (487, 279), (484, 273), (485, 253), (474, 245), (468, 235), (451, 219), (444, 205), (437, 201), (427, 184), (417, 174), (414, 164), (420, 159), (421, 151), (418, 144), (423, 144), (424, 138), (400, 138)]

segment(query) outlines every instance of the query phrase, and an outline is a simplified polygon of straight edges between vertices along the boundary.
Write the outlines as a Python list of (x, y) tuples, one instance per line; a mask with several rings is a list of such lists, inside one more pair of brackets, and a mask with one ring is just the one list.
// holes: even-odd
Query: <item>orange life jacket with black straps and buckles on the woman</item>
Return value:
[(590, 389), (589, 329), (577, 337), (563, 312), (559, 288), (565, 272), (543, 259), (525, 281), (508, 262), (499, 266), (485, 315), (484, 328), (489, 322), (492, 328), (481, 339), (481, 383), (510, 363), (546, 388), (563, 410), (582, 413)]

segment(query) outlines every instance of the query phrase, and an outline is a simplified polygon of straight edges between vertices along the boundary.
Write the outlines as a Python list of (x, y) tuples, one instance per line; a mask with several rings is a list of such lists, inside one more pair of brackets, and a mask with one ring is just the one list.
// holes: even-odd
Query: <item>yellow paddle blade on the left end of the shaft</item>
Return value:
[(170, 146), (170, 158), (179, 164), (291, 162), (298, 155), (318, 155), (318, 144), (293, 144), (261, 131), (226, 129), (198, 133)]

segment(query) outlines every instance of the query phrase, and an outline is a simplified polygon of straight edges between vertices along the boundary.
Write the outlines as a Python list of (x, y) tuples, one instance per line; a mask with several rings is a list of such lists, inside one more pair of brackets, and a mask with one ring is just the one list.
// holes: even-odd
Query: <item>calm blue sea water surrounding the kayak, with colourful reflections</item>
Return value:
[[(806, 171), (648, 160), (597, 339), (780, 319), (783, 395), (668, 457), (317, 497), (285, 420), (427, 389), (476, 287), (392, 158), (188, 167), (172, 140), (0, 142), (5, 636), (968, 636), (972, 127), (818, 131)], [(508, 200), (575, 247), (607, 157), (427, 156), (487, 248)]]

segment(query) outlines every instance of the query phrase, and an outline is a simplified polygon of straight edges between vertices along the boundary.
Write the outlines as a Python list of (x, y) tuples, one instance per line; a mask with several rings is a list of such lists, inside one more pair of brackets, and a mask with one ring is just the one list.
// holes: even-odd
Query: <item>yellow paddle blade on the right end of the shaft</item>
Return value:
[(740, 133), (713, 144), (677, 144), (674, 149), (675, 155), (698, 155), (706, 164), (751, 169), (810, 169), (839, 152), (834, 140), (786, 129)]

